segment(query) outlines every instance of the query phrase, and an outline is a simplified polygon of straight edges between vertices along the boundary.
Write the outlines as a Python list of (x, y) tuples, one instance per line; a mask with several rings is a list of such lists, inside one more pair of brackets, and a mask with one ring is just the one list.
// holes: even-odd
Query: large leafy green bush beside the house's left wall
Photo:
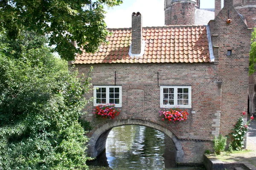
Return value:
[(89, 78), (77, 78), (44, 37), (0, 34), (0, 168), (86, 168), (87, 137), (78, 122)]

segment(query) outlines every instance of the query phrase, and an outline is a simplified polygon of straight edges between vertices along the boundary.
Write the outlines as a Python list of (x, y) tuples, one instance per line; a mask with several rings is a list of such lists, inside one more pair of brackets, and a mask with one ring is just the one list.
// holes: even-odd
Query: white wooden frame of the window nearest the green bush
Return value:
[[(106, 88), (106, 103), (105, 104), (97, 104), (96, 103), (96, 90), (97, 90), (97, 88)], [(122, 107), (122, 86), (115, 86), (115, 85), (114, 86), (94, 85), (93, 86), (93, 106), (109, 104), (109, 88), (119, 88), (119, 104), (115, 104), (115, 107), (116, 108), (121, 108)]]

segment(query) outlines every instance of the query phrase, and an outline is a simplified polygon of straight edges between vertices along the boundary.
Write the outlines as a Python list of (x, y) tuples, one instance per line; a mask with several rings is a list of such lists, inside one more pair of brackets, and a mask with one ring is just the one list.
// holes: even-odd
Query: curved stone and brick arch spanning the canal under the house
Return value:
[(182, 162), (184, 157), (184, 152), (180, 140), (177, 138), (177, 133), (168, 127), (167, 125), (152, 121), (150, 119), (145, 119), (142, 117), (122, 117), (122, 119), (113, 119), (103, 122), (100, 125), (97, 125), (91, 132), (90, 132), (90, 140), (88, 142), (88, 156), (96, 157), (103, 150), (105, 150), (106, 140), (108, 138), (108, 133), (111, 131), (113, 127), (122, 126), (122, 125), (143, 125), (147, 127), (154, 128), (165, 133), (167, 136), (172, 139), (175, 148), (176, 148), (176, 162)]

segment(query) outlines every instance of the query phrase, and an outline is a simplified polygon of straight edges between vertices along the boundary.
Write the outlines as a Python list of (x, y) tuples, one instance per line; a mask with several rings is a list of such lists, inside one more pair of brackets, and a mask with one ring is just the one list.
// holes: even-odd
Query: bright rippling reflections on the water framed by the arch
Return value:
[[(106, 154), (109, 167), (164, 168), (164, 134), (145, 126), (115, 127), (108, 135)], [(175, 161), (173, 162), (175, 165)]]

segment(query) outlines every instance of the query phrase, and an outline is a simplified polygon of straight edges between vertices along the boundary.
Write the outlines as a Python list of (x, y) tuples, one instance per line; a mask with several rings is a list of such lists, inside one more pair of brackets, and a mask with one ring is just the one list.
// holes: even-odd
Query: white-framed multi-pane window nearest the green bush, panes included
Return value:
[(115, 104), (122, 107), (122, 86), (93, 86), (93, 106)]

